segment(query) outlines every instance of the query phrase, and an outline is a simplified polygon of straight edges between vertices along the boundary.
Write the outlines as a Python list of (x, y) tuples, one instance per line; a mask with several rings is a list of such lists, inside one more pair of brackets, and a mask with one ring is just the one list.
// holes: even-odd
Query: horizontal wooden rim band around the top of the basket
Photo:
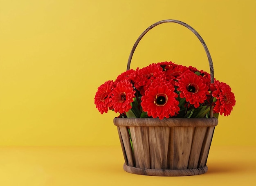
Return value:
[(138, 127), (210, 127), (218, 125), (218, 119), (213, 118), (114, 118), (116, 126)]

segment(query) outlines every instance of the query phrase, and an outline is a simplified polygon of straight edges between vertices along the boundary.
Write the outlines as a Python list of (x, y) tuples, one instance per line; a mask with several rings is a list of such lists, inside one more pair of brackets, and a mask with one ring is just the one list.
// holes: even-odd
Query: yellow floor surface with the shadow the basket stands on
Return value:
[(1, 147), (1, 186), (255, 186), (256, 148), (212, 146), (208, 172), (186, 177), (126, 173), (121, 147)]

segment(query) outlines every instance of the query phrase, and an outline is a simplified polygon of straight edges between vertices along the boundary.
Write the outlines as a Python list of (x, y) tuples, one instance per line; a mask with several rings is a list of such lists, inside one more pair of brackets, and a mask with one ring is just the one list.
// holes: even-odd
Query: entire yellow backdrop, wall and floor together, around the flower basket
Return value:
[[(99, 85), (126, 70), (138, 36), (177, 19), (206, 42), (236, 106), (220, 116), (207, 166), (191, 177), (126, 173), (114, 112)], [(255, 0), (0, 0), (0, 185), (255, 185)], [(165, 23), (139, 43), (132, 68), (173, 61), (209, 72), (195, 35)]]

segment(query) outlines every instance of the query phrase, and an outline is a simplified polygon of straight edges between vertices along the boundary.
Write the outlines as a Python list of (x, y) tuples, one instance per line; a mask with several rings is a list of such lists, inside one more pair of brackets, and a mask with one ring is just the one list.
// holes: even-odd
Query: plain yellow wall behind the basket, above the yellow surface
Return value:
[[(94, 94), (164, 19), (199, 32), (236, 96), (213, 145), (256, 145), (255, 0), (0, 0), (0, 146), (118, 146), (117, 114), (101, 115)], [(148, 32), (131, 67), (161, 61), (209, 72), (199, 40), (175, 23)]]

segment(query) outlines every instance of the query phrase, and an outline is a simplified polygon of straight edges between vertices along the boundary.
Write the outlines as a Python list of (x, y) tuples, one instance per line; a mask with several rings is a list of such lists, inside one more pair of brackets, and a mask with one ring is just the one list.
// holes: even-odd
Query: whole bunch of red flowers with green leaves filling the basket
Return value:
[(114, 110), (128, 118), (209, 118), (228, 116), (236, 104), (226, 83), (195, 67), (173, 62), (129, 69), (99, 86), (94, 103), (103, 114)]

